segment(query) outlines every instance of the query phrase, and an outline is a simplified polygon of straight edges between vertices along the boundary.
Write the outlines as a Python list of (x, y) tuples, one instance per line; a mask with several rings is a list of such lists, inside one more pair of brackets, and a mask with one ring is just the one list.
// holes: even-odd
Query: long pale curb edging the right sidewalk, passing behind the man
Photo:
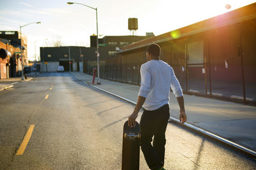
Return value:
[[(79, 79), (77, 78), (77, 80), (79, 80)], [(85, 83), (86, 85), (88, 85), (90, 87), (94, 87), (95, 89), (98, 89), (102, 92), (106, 92), (107, 94), (118, 97), (119, 99), (127, 101), (128, 103), (136, 105), (136, 103), (134, 101), (126, 99), (125, 97), (119, 96), (119, 95), (114, 94), (112, 92), (108, 92), (107, 90), (104, 90), (104, 89), (100, 89), (99, 87), (96, 87), (95, 85), (90, 85), (89, 83), (86, 83), (85, 81), (83, 81), (83, 83)], [(249, 148), (245, 148), (244, 146), (238, 145), (237, 143), (229, 141), (228, 139), (221, 138), (220, 136), (218, 136), (216, 134), (212, 134), (211, 132), (205, 131), (205, 130), (200, 129), (198, 127), (195, 127), (194, 125), (191, 125), (191, 124), (188, 124), (188, 123), (185, 123), (185, 124), (181, 125), (177, 118), (170, 117), (169, 120), (170, 120), (170, 122), (173, 122), (173, 123), (179, 125), (180, 127), (184, 127), (186, 129), (188, 129), (189, 131), (196, 132), (197, 134), (200, 134), (202, 136), (205, 136), (206, 138), (212, 139), (213, 141), (216, 141), (216, 142), (218, 142), (222, 145), (228, 146), (228, 148), (232, 148), (233, 150), (236, 150), (240, 153), (243, 153), (244, 155), (247, 155), (247, 156), (252, 157), (254, 159), (256, 158), (256, 152), (253, 151), (253, 150), (250, 150)]]

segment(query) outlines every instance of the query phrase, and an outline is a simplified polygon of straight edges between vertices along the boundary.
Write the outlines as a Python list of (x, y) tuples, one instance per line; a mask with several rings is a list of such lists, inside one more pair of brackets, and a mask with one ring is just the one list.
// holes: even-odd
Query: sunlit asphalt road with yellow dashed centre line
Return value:
[[(0, 169), (120, 169), (133, 108), (69, 73), (17, 83), (0, 92)], [(26, 150), (15, 155), (29, 125)], [(168, 124), (166, 139), (166, 169), (256, 169), (256, 160), (177, 125)], [(142, 152), (140, 169), (148, 169)]]

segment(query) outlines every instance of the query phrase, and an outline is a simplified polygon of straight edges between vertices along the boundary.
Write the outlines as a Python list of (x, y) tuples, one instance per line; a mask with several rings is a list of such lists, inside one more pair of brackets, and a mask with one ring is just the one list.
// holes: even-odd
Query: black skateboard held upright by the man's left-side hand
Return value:
[(140, 167), (140, 125), (129, 127), (124, 124), (122, 170), (136, 170)]

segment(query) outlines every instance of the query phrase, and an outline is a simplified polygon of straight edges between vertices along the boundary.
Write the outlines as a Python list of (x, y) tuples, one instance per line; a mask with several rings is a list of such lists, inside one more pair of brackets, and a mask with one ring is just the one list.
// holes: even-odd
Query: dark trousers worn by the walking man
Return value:
[[(140, 120), (141, 150), (150, 169), (164, 166), (165, 131), (170, 117), (169, 105), (154, 111), (144, 110)], [(154, 136), (153, 146), (151, 145)]]

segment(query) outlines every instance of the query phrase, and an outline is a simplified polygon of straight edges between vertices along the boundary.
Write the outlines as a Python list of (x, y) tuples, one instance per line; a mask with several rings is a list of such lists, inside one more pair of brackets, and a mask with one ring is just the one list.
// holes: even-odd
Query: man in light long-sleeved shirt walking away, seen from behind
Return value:
[(143, 105), (140, 145), (150, 169), (164, 169), (165, 131), (170, 117), (168, 104), (170, 88), (180, 106), (180, 123), (184, 124), (187, 120), (180, 83), (172, 67), (159, 59), (160, 52), (161, 48), (157, 44), (151, 44), (147, 48), (148, 61), (142, 64), (140, 69), (141, 87), (138, 101), (128, 119), (129, 126), (134, 127), (138, 112)]

